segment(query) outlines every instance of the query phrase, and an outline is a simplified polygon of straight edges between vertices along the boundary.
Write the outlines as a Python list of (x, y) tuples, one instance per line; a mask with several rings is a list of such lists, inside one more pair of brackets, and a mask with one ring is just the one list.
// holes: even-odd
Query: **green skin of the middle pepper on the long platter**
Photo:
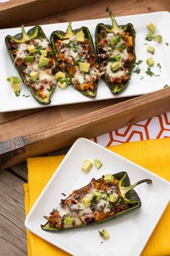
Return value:
[[(81, 27), (81, 28), (76, 29), (76, 30), (71, 30), (71, 25), (70, 24), (71, 23), (68, 24), (68, 30), (70, 28), (70, 33), (72, 33), (71, 35), (76, 35), (76, 33), (78, 33), (79, 31), (82, 30), (84, 35), (85, 35), (85, 39), (89, 39), (89, 41), (91, 42), (91, 46), (93, 48), (93, 52), (94, 52), (94, 54), (96, 56), (96, 50), (95, 50), (95, 47), (94, 47), (93, 40), (91, 38), (91, 33), (89, 32), (89, 28), (88, 27)], [(69, 27), (69, 25), (70, 25), (70, 27)], [(58, 59), (58, 53), (57, 53), (57, 50), (55, 48), (55, 42), (58, 39), (61, 39), (61, 40), (66, 39), (67, 38), (66, 35), (68, 34), (68, 30), (66, 31), (66, 33), (64, 33), (61, 30), (56, 30), (50, 36), (50, 41), (51, 41), (51, 46), (52, 46), (52, 49), (53, 49), (53, 54), (56, 56), (56, 59)], [(60, 64), (60, 63), (58, 63), (58, 64)], [(69, 74), (68, 74), (68, 76), (69, 76)], [(71, 76), (69, 76), (69, 77), (72, 79)], [(76, 86), (73, 84), (73, 82), (71, 82), (71, 84), (73, 85), (74, 88), (76, 88)], [(97, 95), (97, 86), (98, 86), (98, 81), (95, 82), (95, 89), (92, 90), (92, 91), (89, 91), (89, 90), (79, 90), (78, 88), (76, 88), (76, 90), (79, 90), (79, 92), (81, 94), (83, 94), (84, 96), (86, 96), (86, 97), (94, 98)]]

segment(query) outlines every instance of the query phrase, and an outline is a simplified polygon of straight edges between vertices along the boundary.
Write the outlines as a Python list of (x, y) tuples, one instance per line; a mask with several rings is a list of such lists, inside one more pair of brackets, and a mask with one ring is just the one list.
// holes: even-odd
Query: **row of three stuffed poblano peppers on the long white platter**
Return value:
[(96, 49), (87, 27), (66, 33), (55, 31), (50, 41), (40, 26), (27, 33), (7, 35), (6, 47), (17, 67), (22, 82), (35, 99), (50, 103), (56, 85), (73, 85), (83, 95), (94, 98), (102, 76), (113, 94), (128, 85), (135, 62), (135, 30), (132, 24), (118, 26), (109, 7), (111, 25), (98, 24), (95, 32)]

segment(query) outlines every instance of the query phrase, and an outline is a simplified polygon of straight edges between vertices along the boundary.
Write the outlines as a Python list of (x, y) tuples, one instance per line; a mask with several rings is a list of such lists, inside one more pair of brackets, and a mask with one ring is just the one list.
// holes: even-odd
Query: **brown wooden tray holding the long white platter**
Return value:
[[(20, 26), (22, 23), (37, 25), (107, 17), (104, 9), (108, 4), (117, 16), (170, 9), (168, 0), (161, 1), (166, 5), (149, 2), (152, 3), (151, 8), (146, 0), (140, 4), (130, 0), (128, 5), (127, 1), (96, 3), (84, 0), (81, 1), (81, 7), (77, 0), (73, 1), (72, 7), (68, 0), (11, 0), (0, 4), (0, 24), (2, 28)], [(44, 9), (45, 12), (42, 12)], [(43, 19), (35, 20), (40, 17)], [(28, 156), (65, 148), (78, 137), (91, 138), (166, 111), (170, 111), (170, 88), (136, 98), (0, 114), (0, 166), (14, 166), (25, 161)]]

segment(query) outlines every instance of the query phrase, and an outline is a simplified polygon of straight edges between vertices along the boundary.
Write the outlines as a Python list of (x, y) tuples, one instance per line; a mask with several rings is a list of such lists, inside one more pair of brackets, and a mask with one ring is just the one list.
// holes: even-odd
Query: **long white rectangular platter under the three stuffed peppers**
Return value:
[[(116, 18), (118, 24), (124, 25), (128, 22), (133, 23), (136, 31), (136, 40), (135, 40), (135, 53), (137, 57), (137, 61), (139, 59), (143, 60), (143, 64), (140, 64), (140, 74), (133, 73), (128, 84), (128, 88), (120, 95), (113, 95), (109, 88), (107, 87), (104, 80), (99, 80), (99, 86), (97, 90), (97, 97), (95, 99), (86, 98), (84, 95), (81, 95), (77, 90), (75, 90), (72, 86), (66, 88), (66, 90), (62, 90), (61, 88), (56, 88), (55, 92), (52, 95), (51, 103), (48, 106), (58, 106), (65, 105), (71, 103), (81, 103), (88, 101), (99, 101), (110, 98), (122, 98), (129, 97), (134, 95), (141, 95), (145, 93), (151, 93), (155, 90), (159, 90), (164, 88), (164, 85), (169, 84), (170, 82), (170, 30), (167, 28), (170, 27), (170, 15), (169, 12), (153, 12), (149, 14), (138, 14), (138, 15), (130, 15), (125, 17), (117, 17)], [(94, 32), (97, 24), (99, 22), (103, 22), (104, 24), (111, 24), (111, 20), (107, 19), (98, 19), (98, 20), (83, 20), (78, 22), (73, 22), (73, 29), (79, 28), (81, 26), (89, 27), (92, 38), (94, 39)], [(148, 33), (148, 29), (146, 28), (146, 24), (153, 22), (156, 25), (157, 30), (156, 34), (162, 35), (163, 42), (148, 42), (145, 40), (146, 34)], [(42, 30), (44, 30), (45, 34), (50, 38), (51, 33), (54, 30), (63, 30), (66, 31), (66, 27), (68, 22), (66, 23), (57, 23), (50, 25), (42, 25)], [(26, 31), (29, 30), (30, 27), (26, 27)], [(9, 54), (6, 51), (6, 46), (4, 43), (4, 38), (6, 35), (16, 35), (21, 32), (21, 28), (11, 28), (11, 29), (3, 29), (0, 30), (0, 112), (6, 111), (18, 111), (23, 109), (30, 108), (41, 108), (47, 107), (42, 106), (40, 103), (35, 101), (35, 98), (32, 97), (23, 97), (22, 95), (30, 95), (29, 89), (22, 85), (21, 95), (16, 97), (12, 88), (10, 88), (9, 82), (6, 81), (6, 78), (9, 76), (18, 76), (17, 70), (14, 68), (12, 60), (9, 57)], [(169, 43), (169, 46), (166, 46), (166, 42)], [(143, 46), (144, 43), (148, 43), (151, 46), (156, 47), (156, 52), (153, 55), (153, 59), (155, 60), (155, 65), (152, 68), (154, 74), (159, 74), (159, 77), (150, 77), (145, 72), (147, 69), (146, 59), (152, 54), (149, 54), (146, 51), (146, 45)], [(157, 67), (157, 64), (161, 64), (161, 69)], [(141, 80), (140, 78), (143, 79)]]

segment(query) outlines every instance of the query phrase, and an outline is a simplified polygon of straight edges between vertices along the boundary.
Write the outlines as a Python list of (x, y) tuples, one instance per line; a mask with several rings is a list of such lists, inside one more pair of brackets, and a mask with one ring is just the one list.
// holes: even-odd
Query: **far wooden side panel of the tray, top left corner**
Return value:
[[(68, 11), (93, 3), (95, 0), (12, 0), (0, 4), (0, 27), (14, 27), (42, 19), (56, 12)], [(96, 0), (97, 1), (97, 0)], [(10, 17), (10, 19), (6, 19)]]

